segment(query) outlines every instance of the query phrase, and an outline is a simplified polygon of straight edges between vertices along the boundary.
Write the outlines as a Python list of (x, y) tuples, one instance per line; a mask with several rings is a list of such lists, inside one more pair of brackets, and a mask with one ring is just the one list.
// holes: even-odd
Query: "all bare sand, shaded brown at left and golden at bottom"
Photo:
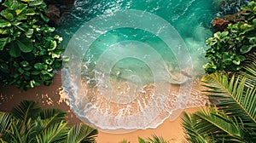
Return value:
[[(27, 91), (20, 91), (19, 89), (10, 87), (0, 87), (0, 111), (9, 112), (14, 106), (18, 105), (21, 100), (37, 100), (40, 105), (45, 108), (58, 108), (63, 112), (67, 112), (68, 122), (76, 124), (81, 122), (76, 117), (67, 103), (61, 100), (61, 75), (55, 76), (54, 83), (49, 87), (39, 86)], [(185, 112), (195, 112), (198, 108), (189, 108)], [(177, 117), (174, 121), (166, 119), (157, 129), (140, 129), (125, 134), (109, 134), (106, 131), (99, 130), (98, 143), (118, 143), (121, 140), (129, 140), (131, 143), (137, 142), (137, 137), (150, 137), (152, 134), (163, 136), (170, 143), (184, 142), (183, 129), (181, 126), (181, 117)]]

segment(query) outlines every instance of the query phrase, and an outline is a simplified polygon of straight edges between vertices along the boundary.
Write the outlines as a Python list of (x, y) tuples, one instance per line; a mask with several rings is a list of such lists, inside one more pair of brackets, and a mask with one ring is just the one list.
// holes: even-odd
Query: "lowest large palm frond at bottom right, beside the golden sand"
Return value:
[(233, 121), (216, 106), (195, 112), (192, 117), (183, 116), (186, 140), (198, 143), (247, 142), (240, 124)]

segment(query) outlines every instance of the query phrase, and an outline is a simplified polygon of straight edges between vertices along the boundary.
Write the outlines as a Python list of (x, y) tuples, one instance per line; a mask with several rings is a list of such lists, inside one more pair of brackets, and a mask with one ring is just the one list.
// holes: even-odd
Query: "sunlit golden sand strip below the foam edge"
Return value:
[[(198, 111), (199, 108), (201, 107), (188, 108), (184, 111), (192, 113)], [(125, 134), (109, 134), (99, 130), (96, 141), (99, 143), (119, 143), (122, 140), (127, 140), (130, 141), (130, 143), (137, 143), (138, 136), (146, 139), (148, 137), (151, 138), (152, 134), (155, 134), (157, 136), (162, 136), (170, 143), (183, 143), (185, 142), (185, 140), (183, 134), (183, 127), (181, 125), (181, 117), (182, 114), (172, 122), (169, 119), (166, 119), (166, 121), (160, 124), (160, 126), (156, 129), (137, 129), (135, 131)]]

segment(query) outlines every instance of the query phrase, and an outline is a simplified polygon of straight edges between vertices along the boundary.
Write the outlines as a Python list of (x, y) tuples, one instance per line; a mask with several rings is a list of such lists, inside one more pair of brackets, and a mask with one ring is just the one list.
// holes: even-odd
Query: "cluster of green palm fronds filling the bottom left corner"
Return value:
[(0, 142), (90, 143), (96, 129), (84, 123), (67, 125), (67, 115), (57, 109), (42, 110), (37, 102), (24, 100), (11, 112), (0, 112)]

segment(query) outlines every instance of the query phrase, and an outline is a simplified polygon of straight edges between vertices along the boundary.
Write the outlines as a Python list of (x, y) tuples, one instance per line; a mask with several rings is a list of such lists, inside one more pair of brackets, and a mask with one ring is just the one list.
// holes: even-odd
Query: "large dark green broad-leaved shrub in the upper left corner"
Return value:
[(52, 83), (61, 68), (62, 38), (44, 16), (43, 0), (5, 0), (0, 6), (0, 84), (20, 89)]

